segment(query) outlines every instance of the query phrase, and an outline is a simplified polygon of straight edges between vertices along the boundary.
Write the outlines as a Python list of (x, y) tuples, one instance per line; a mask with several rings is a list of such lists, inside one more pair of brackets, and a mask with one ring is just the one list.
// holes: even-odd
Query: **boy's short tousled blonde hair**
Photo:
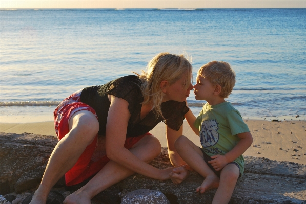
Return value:
[(229, 97), (236, 82), (234, 70), (229, 63), (223, 61), (212, 61), (204, 64), (199, 69), (198, 75), (203, 78), (208, 78), (213, 84), (219, 84), (221, 86), (219, 96), (223, 98)]

